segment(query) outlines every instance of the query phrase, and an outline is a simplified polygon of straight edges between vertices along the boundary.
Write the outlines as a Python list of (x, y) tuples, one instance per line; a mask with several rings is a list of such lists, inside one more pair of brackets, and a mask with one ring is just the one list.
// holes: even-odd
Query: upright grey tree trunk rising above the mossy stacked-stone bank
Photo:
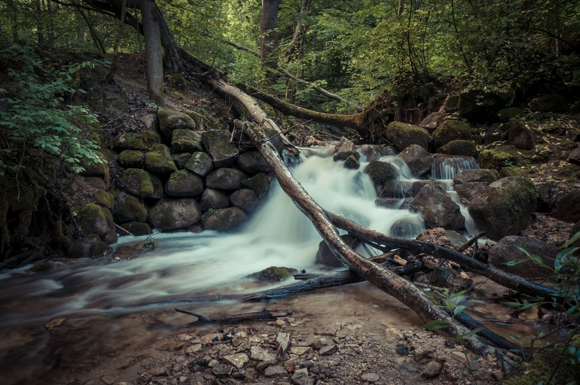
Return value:
[(159, 10), (155, 0), (140, 0), (139, 9), (143, 20), (145, 60), (147, 63), (147, 92), (149, 93), (149, 99), (153, 103), (163, 106), (163, 55), (158, 17)]

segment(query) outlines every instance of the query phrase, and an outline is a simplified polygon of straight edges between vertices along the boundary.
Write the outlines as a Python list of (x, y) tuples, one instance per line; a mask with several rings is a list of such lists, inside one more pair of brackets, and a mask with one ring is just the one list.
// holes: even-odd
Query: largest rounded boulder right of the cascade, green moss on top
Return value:
[(538, 199), (534, 183), (521, 176), (509, 176), (484, 187), (467, 206), (469, 214), (487, 236), (497, 241), (517, 235), (528, 223)]

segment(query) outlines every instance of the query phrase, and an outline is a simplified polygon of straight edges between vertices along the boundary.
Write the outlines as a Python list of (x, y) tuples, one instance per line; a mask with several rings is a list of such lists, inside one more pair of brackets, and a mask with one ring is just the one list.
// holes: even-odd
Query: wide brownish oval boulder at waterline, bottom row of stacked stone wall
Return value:
[(200, 220), (200, 205), (191, 198), (158, 201), (150, 210), (148, 223), (161, 231), (186, 228)]

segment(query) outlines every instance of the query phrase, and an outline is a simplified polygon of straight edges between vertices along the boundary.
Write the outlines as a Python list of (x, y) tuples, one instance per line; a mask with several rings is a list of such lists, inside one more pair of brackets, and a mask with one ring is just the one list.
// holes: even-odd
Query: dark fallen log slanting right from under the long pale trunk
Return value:
[(530, 296), (546, 298), (558, 297), (556, 290), (553, 288), (539, 285), (532, 281), (527, 281), (518, 275), (506, 273), (495, 266), (469, 258), (456, 250), (448, 249), (439, 245), (428, 244), (426, 242), (415, 241), (414, 239), (389, 237), (388, 235), (378, 233), (378, 231), (369, 230), (368, 228), (360, 226), (360, 224), (335, 213), (327, 211), (326, 215), (328, 215), (335, 226), (348, 231), (354, 237), (360, 238), (365, 242), (371, 242), (371, 244), (375, 244), (379, 246), (379, 248), (384, 248), (385, 246), (388, 246), (391, 249), (401, 248), (414, 253), (425, 253), (434, 257), (451, 260), (460, 264), (467, 270), (490, 278), (492, 281), (497, 282), (506, 288), (517, 290), (518, 292)]

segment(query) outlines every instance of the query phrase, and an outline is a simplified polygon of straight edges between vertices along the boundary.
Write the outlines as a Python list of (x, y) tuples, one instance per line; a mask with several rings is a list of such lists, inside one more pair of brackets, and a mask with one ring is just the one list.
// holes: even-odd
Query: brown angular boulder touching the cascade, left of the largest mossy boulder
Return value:
[(420, 212), (427, 228), (459, 230), (465, 226), (461, 209), (445, 191), (427, 184), (412, 199), (411, 208)]

